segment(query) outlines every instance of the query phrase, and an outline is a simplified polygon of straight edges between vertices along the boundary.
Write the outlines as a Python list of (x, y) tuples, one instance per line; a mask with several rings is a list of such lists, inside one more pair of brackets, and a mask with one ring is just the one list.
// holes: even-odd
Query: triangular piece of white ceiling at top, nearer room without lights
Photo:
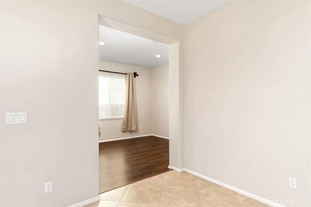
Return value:
[(232, 0), (124, 0), (158, 16), (185, 25)]

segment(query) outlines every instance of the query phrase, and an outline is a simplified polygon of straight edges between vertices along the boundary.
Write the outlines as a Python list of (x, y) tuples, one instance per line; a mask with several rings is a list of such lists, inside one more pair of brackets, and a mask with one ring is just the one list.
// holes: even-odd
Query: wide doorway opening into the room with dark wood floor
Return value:
[[(146, 38), (146, 31), (129, 28), (100, 16), (99, 87), (106, 84), (105, 88), (111, 90), (101, 92), (99, 88), (100, 193), (170, 170), (169, 45), (163, 43), (167, 42), (165, 37), (158, 42), (158, 38)], [(135, 131), (122, 132), (120, 111), (124, 109), (122, 97), (116, 94), (123, 90), (120, 84), (124, 73), (134, 72), (138, 74), (135, 78), (138, 126)], [(111, 100), (113, 97), (117, 101)], [(115, 105), (104, 107), (108, 102)]]

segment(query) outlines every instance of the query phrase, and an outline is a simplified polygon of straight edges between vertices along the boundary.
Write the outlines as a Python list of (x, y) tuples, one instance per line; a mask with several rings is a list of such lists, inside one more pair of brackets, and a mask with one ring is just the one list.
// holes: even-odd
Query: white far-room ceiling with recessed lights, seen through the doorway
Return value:
[[(122, 64), (156, 67), (169, 63), (169, 46), (134, 34), (99, 25), (99, 59)], [(156, 58), (155, 55), (161, 55)]]

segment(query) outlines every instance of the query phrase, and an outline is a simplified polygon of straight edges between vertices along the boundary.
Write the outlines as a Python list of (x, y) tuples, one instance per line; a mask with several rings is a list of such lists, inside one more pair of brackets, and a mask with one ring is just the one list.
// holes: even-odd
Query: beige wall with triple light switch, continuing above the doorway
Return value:
[[(0, 206), (65, 207), (98, 196), (98, 15), (175, 40), (182, 27), (123, 1), (0, 3)], [(27, 124), (4, 125), (8, 111), (27, 111)], [(170, 146), (178, 156), (179, 145)]]

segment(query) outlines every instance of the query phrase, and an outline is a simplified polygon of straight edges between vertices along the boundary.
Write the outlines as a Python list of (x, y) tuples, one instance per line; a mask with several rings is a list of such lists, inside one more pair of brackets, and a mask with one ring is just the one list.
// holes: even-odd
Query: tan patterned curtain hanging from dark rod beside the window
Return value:
[(125, 105), (122, 131), (137, 130), (136, 92), (133, 73), (125, 76)]

